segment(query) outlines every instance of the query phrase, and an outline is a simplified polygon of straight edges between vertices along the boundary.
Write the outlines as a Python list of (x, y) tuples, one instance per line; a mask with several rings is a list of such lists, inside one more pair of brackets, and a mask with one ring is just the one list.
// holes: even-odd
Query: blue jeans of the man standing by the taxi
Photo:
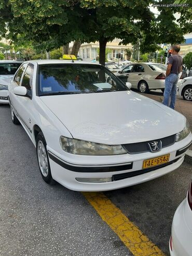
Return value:
[[(171, 73), (166, 77), (165, 80), (165, 88), (164, 88), (164, 99), (163, 104), (166, 106), (170, 106), (171, 109), (175, 108), (175, 100), (176, 100), (176, 84), (178, 82), (179, 75)], [(169, 98), (171, 97), (171, 103), (169, 105)]]

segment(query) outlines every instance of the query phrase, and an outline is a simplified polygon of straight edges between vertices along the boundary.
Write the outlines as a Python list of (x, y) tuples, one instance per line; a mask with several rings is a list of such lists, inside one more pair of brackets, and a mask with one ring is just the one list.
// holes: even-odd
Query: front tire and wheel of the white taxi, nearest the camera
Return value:
[(42, 175), (43, 180), (48, 184), (53, 183), (49, 157), (47, 153), (47, 143), (44, 134), (41, 131), (38, 133), (36, 138), (36, 153), (40, 174)]

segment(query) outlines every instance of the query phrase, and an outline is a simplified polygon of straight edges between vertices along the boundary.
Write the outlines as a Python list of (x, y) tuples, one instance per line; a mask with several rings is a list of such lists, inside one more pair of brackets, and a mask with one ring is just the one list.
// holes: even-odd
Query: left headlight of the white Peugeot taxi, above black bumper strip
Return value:
[(60, 137), (62, 149), (76, 155), (120, 155), (127, 154), (127, 151), (121, 145), (105, 145), (90, 141), (76, 140)]

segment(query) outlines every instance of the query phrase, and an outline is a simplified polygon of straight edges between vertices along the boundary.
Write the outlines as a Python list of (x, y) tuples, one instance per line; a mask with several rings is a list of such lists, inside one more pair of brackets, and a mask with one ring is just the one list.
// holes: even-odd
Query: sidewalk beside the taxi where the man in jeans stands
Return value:
[[(159, 95), (145, 94), (144, 96), (156, 100), (158, 102), (162, 102), (163, 100), (163, 96)], [(175, 110), (180, 112), (187, 118), (192, 131), (192, 102), (176, 99)], [(188, 151), (186, 152), (186, 155), (186, 158), (188, 158), (190, 163), (192, 163), (192, 145), (189, 147)]]

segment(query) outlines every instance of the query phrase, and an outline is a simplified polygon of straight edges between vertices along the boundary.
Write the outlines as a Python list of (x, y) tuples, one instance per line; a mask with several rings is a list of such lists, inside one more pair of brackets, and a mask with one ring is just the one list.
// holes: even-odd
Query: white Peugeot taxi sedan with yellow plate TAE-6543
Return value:
[(12, 122), (36, 147), (44, 181), (75, 191), (160, 177), (182, 164), (192, 140), (182, 114), (130, 91), (96, 63), (24, 62), (9, 102)]

